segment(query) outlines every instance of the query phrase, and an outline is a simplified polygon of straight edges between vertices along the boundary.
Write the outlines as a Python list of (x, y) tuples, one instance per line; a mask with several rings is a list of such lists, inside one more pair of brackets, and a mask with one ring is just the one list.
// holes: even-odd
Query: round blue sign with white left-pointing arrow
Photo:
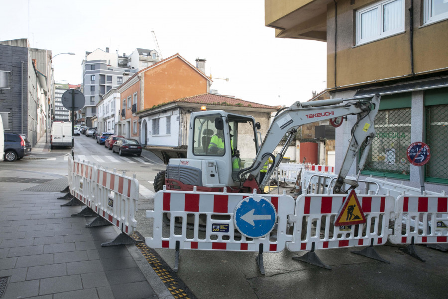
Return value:
[(242, 235), (261, 238), (272, 231), (277, 214), (269, 200), (254, 195), (238, 203), (233, 218), (236, 228)]

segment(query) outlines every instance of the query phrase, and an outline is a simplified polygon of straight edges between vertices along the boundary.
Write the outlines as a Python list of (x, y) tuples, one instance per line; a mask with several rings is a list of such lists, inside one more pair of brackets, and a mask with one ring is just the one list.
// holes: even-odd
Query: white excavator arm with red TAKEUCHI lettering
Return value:
[[(370, 141), (375, 136), (373, 122), (378, 112), (379, 102), (380, 95), (376, 94), (375, 96), (368, 98), (356, 97), (305, 103), (296, 102), (291, 107), (284, 109), (274, 117), (266, 137), (254, 158), (253, 164), (250, 167), (239, 171), (238, 176), (241, 181), (244, 181), (243, 186), (254, 187), (256, 185), (256, 183), (254, 184), (256, 177), (258, 177), (264, 163), (271, 157), (273, 158), (273, 163), (267, 170), (263, 181), (258, 185), (261, 190), (264, 189), (274, 169), (280, 164), (282, 157), (288, 148), (289, 141), (294, 137), (298, 127), (345, 115), (357, 115), (357, 122), (351, 130), (350, 145), (345, 154), (334, 190), (336, 193), (340, 192), (341, 186), (347, 183), (356, 187), (357, 182), (347, 180), (345, 177), (363, 143), (366, 145), (366, 148), (361, 156), (359, 168), (362, 169), (364, 166), (365, 159), (367, 158), (371, 146)], [(276, 156), (274, 156), (272, 152), (285, 135), (288, 136), (285, 146)]]

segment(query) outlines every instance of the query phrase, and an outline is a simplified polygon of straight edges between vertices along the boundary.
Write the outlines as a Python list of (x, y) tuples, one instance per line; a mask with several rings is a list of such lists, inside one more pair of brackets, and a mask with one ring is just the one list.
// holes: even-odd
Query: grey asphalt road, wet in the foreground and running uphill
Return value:
[[(1, 163), (1, 168), (27, 169), (67, 175), (64, 154), (70, 149), (54, 149), (61, 156), (51, 159), (22, 159)], [(108, 166), (109, 169), (136, 174), (140, 184), (137, 230), (151, 235), (151, 222), (145, 210), (153, 208), (152, 181), (164, 165), (136, 156), (120, 157), (85, 136), (75, 137), (75, 156)], [(265, 275), (255, 262), (257, 253), (181, 250), (177, 275), (200, 299), (209, 298), (445, 298), (448, 292), (448, 252), (425, 246), (416, 250), (426, 260), (420, 262), (394, 246), (376, 246), (390, 264), (350, 253), (350, 248), (316, 251), (329, 264), (327, 270), (293, 260), (305, 252), (265, 253)], [(351, 249), (353, 250), (353, 248)], [(358, 249), (355, 249), (358, 250)], [(174, 267), (175, 252), (157, 249), (169, 266)]]

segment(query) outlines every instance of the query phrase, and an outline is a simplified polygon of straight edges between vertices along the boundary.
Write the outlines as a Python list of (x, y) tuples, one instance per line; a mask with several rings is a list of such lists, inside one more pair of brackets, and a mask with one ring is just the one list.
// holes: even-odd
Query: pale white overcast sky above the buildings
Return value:
[[(29, 38), (53, 56), (55, 81), (82, 83), (82, 60), (97, 48), (122, 55), (157, 49), (193, 65), (205, 58), (211, 89), (265, 105), (290, 106), (326, 88), (327, 44), (276, 38), (263, 0), (0, 0), (0, 40)], [(29, 9), (28, 9), (29, 8)], [(65, 82), (63, 82), (65, 83)]]

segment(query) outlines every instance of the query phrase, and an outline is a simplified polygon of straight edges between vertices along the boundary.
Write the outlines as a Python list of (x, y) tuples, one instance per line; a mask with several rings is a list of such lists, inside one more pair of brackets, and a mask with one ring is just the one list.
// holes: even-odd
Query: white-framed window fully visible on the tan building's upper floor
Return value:
[(404, 0), (388, 0), (356, 11), (356, 44), (404, 31)]

